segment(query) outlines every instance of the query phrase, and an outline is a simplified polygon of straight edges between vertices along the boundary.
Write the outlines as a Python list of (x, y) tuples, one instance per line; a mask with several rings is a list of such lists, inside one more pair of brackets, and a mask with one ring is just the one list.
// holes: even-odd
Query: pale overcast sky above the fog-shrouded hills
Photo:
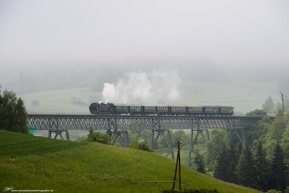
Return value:
[(0, 0), (0, 66), (288, 67), (289, 1)]

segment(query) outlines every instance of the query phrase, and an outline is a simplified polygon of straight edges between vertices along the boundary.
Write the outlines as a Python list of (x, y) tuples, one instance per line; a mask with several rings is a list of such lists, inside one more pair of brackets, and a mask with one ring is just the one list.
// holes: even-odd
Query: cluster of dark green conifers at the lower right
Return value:
[(239, 144), (236, 149), (231, 142), (229, 148), (223, 145), (213, 168), (214, 177), (222, 181), (263, 192), (271, 189), (282, 191), (284, 190), (284, 171), (288, 170), (288, 161), (278, 142), (271, 159), (267, 156), (261, 141), (258, 141), (255, 155), (248, 143), (244, 149), (242, 144)]

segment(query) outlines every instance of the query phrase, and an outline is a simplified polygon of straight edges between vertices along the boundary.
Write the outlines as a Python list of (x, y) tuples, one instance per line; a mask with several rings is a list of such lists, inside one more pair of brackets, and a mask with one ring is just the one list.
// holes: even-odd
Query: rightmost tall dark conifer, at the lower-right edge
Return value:
[(285, 162), (285, 155), (283, 153), (283, 149), (279, 144), (279, 141), (275, 145), (271, 168), (273, 173), (272, 188), (278, 191), (282, 191), (284, 187), (284, 171), (288, 170), (288, 166)]

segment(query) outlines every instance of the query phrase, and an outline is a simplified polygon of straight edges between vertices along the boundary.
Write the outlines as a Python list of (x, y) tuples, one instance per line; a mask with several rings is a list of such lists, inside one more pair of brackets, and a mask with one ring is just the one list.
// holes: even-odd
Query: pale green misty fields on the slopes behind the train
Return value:
[[(235, 111), (247, 113), (261, 109), (269, 95), (274, 102), (280, 102), (276, 83), (271, 82), (184, 82), (180, 88), (181, 97), (176, 101), (164, 98), (166, 104), (193, 104), (193, 105), (224, 105), (234, 106)], [(80, 96), (83, 104), (73, 104), (73, 96)], [(143, 103), (156, 103), (153, 96), (142, 101)], [(89, 112), (88, 106), (92, 102), (101, 100), (101, 92), (91, 92), (90, 88), (67, 89), (30, 93), (25, 95), (27, 111), (49, 112)], [(40, 105), (32, 106), (32, 100), (39, 100)], [(121, 102), (121, 101), (116, 101)], [(130, 101), (129, 103), (139, 103)]]

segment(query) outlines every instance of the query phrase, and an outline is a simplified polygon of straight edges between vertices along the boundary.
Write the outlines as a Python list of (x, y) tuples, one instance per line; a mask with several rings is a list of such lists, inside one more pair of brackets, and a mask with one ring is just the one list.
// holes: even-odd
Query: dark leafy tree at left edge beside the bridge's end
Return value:
[[(0, 85), (1, 89), (1, 85)], [(0, 129), (28, 134), (27, 111), (21, 98), (16, 93), (0, 90)]]

